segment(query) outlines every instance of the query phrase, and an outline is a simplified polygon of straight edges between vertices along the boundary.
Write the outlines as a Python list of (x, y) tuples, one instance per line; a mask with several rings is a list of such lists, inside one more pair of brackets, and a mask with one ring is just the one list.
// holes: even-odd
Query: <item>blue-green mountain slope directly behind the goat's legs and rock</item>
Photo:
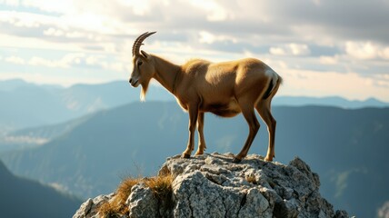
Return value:
[[(274, 106), (273, 111), (275, 161), (302, 157), (321, 176), (321, 193), (335, 207), (357, 217), (374, 217), (389, 199), (389, 108)], [(174, 102), (125, 104), (64, 124), (19, 131), (52, 137), (0, 157), (16, 174), (60, 184), (87, 198), (111, 193), (128, 175), (154, 174), (165, 157), (183, 152), (187, 122), (187, 114)], [(266, 152), (267, 132), (261, 124), (251, 154)], [(207, 114), (206, 153), (236, 154), (247, 133), (241, 115), (220, 119)]]

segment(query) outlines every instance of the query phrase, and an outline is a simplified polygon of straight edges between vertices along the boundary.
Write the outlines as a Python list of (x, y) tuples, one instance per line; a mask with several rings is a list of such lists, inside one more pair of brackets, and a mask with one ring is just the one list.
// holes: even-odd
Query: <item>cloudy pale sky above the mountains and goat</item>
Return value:
[(132, 45), (176, 64), (255, 57), (279, 95), (389, 102), (389, 0), (0, 0), (0, 80), (128, 81)]

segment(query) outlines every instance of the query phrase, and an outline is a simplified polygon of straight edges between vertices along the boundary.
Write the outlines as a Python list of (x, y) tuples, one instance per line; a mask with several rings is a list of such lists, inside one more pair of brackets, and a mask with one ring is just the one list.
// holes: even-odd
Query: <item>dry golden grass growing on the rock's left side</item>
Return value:
[(122, 217), (129, 213), (128, 206), (125, 201), (131, 194), (131, 189), (136, 183), (145, 182), (145, 185), (150, 187), (155, 198), (160, 203), (161, 207), (171, 209), (173, 207), (173, 176), (171, 174), (159, 175), (151, 178), (126, 178), (120, 183), (115, 192), (115, 197), (107, 203), (104, 203), (99, 208), (99, 213), (105, 218)]

